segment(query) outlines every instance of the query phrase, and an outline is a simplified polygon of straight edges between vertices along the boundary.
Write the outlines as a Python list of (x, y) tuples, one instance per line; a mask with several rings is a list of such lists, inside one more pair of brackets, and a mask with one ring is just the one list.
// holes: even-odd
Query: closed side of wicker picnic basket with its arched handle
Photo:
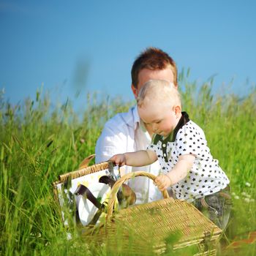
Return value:
[[(94, 230), (95, 240), (107, 244), (116, 255), (120, 252), (126, 255), (148, 255), (148, 250), (167, 252), (168, 241), (173, 250), (194, 246), (194, 255), (217, 255), (222, 230), (191, 203), (175, 200), (169, 197), (167, 191), (163, 192), (162, 200), (113, 212), (116, 193), (121, 184), (137, 176), (146, 176), (153, 181), (156, 178), (140, 171), (128, 173), (116, 181), (108, 202), (106, 223)], [(173, 234), (178, 234), (174, 243), (171, 241)]]

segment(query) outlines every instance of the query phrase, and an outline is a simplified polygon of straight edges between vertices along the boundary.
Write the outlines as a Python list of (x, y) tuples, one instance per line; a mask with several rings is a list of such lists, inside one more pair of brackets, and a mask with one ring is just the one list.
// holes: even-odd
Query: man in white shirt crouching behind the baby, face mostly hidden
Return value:
[[(178, 86), (177, 68), (173, 59), (158, 48), (147, 48), (140, 53), (132, 65), (132, 92), (135, 98), (142, 86), (153, 79), (167, 80)], [(137, 106), (127, 113), (118, 113), (105, 124), (95, 148), (96, 162), (104, 162), (114, 154), (146, 149), (151, 143), (153, 131), (150, 125), (143, 124), (138, 116)], [(146, 167), (124, 166), (123, 173), (144, 170), (155, 176), (159, 174), (159, 162)], [(136, 203), (147, 203), (162, 198), (161, 192), (146, 177), (129, 181), (137, 196)]]

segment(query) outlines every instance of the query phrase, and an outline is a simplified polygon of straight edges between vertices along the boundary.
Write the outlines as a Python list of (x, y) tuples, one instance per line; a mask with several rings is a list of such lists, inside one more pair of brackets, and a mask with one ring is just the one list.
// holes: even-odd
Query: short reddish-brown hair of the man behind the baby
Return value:
[(178, 75), (175, 61), (163, 50), (159, 48), (146, 48), (135, 59), (132, 65), (132, 84), (138, 88), (138, 76), (142, 69), (162, 70), (170, 66), (173, 71), (173, 83), (178, 86)]

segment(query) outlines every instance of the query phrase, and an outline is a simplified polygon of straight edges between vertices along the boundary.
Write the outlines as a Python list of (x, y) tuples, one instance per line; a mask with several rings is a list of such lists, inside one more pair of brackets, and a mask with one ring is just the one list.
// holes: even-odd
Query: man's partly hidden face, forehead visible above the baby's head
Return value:
[(170, 83), (174, 83), (173, 80), (173, 71), (170, 67), (162, 70), (151, 70), (151, 69), (141, 69), (138, 75), (138, 88), (135, 88), (132, 85), (132, 92), (135, 96), (135, 99), (138, 97), (140, 89), (142, 86), (148, 82), (148, 80), (167, 80)]

